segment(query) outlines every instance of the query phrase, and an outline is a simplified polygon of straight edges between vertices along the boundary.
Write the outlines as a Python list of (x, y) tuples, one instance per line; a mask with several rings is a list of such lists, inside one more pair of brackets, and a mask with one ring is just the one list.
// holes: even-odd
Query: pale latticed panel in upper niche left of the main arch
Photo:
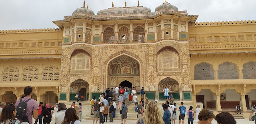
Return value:
[(71, 59), (71, 73), (90, 73), (91, 57), (84, 53), (78, 53)]

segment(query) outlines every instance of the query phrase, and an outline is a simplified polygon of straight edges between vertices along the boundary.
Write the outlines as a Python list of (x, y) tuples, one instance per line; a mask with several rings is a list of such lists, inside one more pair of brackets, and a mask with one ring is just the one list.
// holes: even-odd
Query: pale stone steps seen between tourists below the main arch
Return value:
[[(134, 103), (128, 103), (126, 104), (128, 107), (128, 114), (127, 114), (127, 119), (126, 120), (137, 120), (137, 112), (134, 111)], [(118, 104), (116, 104), (116, 118), (114, 120), (121, 120), (122, 116), (120, 114), (120, 110), (118, 109)], [(85, 116), (82, 117), (83, 119), (86, 120), (93, 120), (93, 115), (86, 114)], [(108, 121), (109, 121), (109, 114), (108, 114)]]

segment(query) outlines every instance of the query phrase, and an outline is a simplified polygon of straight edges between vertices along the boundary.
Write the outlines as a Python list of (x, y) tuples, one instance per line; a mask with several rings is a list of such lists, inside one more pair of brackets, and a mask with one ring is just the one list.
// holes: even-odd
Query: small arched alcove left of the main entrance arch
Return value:
[(82, 95), (84, 96), (83, 98), (83, 101), (88, 101), (88, 97), (89, 97), (89, 84), (82, 80), (82, 79), (78, 79), (74, 82), (71, 83), (70, 85), (70, 98), (69, 100), (70, 101), (76, 101), (77, 98), (75, 97), (76, 96), (76, 93), (78, 91), (81, 91)]

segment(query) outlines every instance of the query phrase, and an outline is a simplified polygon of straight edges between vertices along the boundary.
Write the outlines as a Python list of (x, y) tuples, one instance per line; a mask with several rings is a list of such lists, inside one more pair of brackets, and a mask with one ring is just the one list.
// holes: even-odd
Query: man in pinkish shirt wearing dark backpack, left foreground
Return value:
[(15, 103), (15, 107), (17, 109), (16, 118), (20, 121), (20, 123), (28, 122), (29, 124), (32, 124), (32, 116), (34, 116), (34, 119), (38, 118), (39, 107), (36, 100), (31, 99), (31, 96), (33, 94), (32, 91), (32, 87), (25, 87), (25, 97), (17, 100), (17, 102)]

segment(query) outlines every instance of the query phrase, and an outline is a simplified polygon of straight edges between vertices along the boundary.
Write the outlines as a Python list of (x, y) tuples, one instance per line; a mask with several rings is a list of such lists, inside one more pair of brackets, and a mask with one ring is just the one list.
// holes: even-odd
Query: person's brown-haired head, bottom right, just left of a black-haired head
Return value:
[(215, 115), (207, 110), (203, 109), (199, 112), (198, 119), (199, 121), (197, 122), (198, 124), (212, 124), (212, 120), (215, 118)]

